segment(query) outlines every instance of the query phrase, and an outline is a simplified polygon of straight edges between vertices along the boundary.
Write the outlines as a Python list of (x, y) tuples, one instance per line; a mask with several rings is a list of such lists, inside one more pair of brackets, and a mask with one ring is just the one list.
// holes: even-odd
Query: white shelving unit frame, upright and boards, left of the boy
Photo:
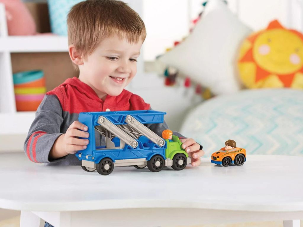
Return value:
[(8, 36), (5, 7), (0, 3), (0, 135), (26, 134), (35, 119), (35, 112), (16, 111), (10, 54), (67, 51), (66, 36)]

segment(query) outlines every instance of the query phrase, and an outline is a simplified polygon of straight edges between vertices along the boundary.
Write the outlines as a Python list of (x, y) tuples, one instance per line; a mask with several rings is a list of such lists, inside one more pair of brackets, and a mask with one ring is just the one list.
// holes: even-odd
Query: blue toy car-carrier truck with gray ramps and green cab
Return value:
[[(152, 172), (159, 172), (164, 166), (184, 169), (188, 154), (181, 148), (179, 138), (164, 140), (145, 126), (162, 123), (164, 114), (155, 110), (80, 113), (78, 119), (89, 133), (86, 149), (75, 154), (82, 161), (82, 169), (97, 170), (102, 175), (112, 173), (114, 166), (147, 166)], [(105, 137), (105, 146), (96, 146), (95, 130)]]

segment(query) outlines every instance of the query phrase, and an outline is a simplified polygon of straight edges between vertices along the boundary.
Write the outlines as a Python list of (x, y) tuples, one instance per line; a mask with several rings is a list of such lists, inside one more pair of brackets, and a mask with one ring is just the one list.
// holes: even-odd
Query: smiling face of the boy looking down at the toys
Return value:
[(107, 94), (121, 94), (137, 72), (141, 46), (141, 39), (133, 44), (116, 35), (103, 39), (79, 65), (79, 79), (92, 87), (103, 100)]

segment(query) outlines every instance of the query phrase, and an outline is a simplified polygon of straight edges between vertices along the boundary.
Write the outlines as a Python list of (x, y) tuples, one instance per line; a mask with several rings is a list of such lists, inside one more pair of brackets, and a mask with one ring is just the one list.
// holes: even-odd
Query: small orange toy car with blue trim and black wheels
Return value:
[(211, 155), (211, 163), (222, 166), (230, 166), (232, 163), (235, 163), (235, 165), (241, 166), (246, 161), (246, 150), (244, 148), (223, 149), (224, 147)]

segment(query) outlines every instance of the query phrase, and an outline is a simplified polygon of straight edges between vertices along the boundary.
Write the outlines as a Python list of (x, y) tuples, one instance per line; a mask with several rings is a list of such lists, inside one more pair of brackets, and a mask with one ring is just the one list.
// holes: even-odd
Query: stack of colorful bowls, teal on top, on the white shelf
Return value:
[(36, 111), (45, 92), (43, 71), (13, 74), (17, 111)]

